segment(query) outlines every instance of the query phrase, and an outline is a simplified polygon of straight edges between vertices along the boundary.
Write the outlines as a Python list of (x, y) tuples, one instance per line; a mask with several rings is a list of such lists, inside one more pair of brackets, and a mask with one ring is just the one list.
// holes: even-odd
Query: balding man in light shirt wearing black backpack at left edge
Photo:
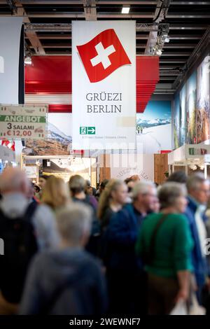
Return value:
[(57, 246), (55, 217), (45, 206), (31, 202), (31, 184), (19, 168), (0, 176), (0, 314), (13, 314), (20, 301), (31, 257), (38, 248)]

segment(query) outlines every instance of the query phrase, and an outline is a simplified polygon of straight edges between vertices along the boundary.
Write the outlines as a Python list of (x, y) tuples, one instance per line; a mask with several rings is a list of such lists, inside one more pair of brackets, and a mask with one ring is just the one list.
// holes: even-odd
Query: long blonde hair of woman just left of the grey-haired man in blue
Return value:
[(109, 202), (113, 198), (113, 193), (120, 188), (120, 186), (125, 185), (120, 179), (111, 179), (109, 183), (106, 184), (106, 187), (102, 191), (102, 195), (99, 198), (99, 208), (98, 208), (98, 218), (102, 219), (104, 211), (109, 207)]

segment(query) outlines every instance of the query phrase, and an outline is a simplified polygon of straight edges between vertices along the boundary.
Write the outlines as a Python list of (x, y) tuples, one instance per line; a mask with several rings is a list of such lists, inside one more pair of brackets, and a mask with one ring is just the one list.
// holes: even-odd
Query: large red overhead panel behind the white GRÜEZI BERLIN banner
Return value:
[[(159, 57), (137, 56), (137, 113), (143, 113), (159, 81)], [(25, 67), (26, 94), (71, 94), (71, 57), (34, 56)], [(50, 105), (50, 112), (71, 112), (71, 104)]]

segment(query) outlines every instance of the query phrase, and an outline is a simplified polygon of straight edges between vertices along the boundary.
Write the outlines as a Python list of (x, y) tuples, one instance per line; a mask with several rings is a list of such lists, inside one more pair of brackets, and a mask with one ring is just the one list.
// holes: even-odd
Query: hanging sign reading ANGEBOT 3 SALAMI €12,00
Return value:
[(0, 106), (0, 139), (43, 139), (48, 106)]

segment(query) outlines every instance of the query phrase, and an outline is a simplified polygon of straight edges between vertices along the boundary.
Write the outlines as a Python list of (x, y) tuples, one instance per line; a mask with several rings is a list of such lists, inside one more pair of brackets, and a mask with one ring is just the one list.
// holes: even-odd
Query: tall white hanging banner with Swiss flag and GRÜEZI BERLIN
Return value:
[(135, 148), (136, 22), (72, 22), (73, 149)]

